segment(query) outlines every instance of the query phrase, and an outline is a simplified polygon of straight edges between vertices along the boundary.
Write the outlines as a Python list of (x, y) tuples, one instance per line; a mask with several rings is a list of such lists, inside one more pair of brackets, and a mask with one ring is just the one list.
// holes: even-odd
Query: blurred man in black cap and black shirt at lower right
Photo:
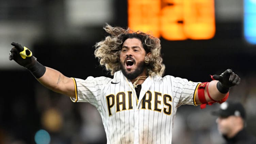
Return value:
[(245, 129), (246, 112), (240, 102), (226, 101), (212, 115), (218, 116), (218, 131), (226, 144), (256, 144), (256, 137)]

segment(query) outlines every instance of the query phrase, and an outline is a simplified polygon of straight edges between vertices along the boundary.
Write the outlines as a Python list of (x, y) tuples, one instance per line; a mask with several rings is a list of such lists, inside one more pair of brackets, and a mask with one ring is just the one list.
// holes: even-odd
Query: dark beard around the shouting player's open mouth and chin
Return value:
[(137, 78), (140, 74), (142, 74), (143, 70), (146, 66), (144, 61), (139, 62), (137, 68), (132, 73), (128, 73), (125, 70), (125, 66), (122, 63), (120, 63), (120, 64), (121, 64), (121, 69), (122, 69), (123, 75), (125, 77), (127, 77), (129, 80), (133, 80), (133, 79)]

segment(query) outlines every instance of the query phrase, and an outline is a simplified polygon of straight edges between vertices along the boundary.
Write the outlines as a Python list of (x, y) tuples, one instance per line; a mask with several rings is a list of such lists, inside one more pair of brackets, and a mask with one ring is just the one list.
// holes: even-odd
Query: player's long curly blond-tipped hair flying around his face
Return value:
[(151, 52), (148, 57), (145, 57), (148, 75), (163, 76), (165, 65), (163, 64), (159, 38), (141, 31), (133, 32), (130, 28), (112, 27), (108, 23), (106, 23), (103, 29), (110, 35), (95, 44), (94, 55), (95, 58), (99, 59), (100, 65), (105, 66), (112, 76), (116, 71), (121, 70), (119, 56), (122, 45), (127, 38), (140, 39), (145, 51), (147, 53)]

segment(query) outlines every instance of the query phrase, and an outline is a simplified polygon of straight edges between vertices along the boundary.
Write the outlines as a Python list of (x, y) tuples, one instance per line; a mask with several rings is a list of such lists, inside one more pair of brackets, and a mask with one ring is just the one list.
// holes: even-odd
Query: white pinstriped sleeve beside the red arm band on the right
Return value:
[(195, 105), (195, 92), (198, 84), (201, 82), (193, 82), (179, 77), (174, 78), (173, 95), (178, 99), (178, 105)]

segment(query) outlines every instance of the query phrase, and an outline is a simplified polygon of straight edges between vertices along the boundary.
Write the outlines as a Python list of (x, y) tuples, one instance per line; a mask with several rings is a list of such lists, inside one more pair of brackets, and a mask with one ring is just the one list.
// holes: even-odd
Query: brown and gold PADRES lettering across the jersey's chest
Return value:
[(116, 113), (133, 113), (140, 115), (141, 112), (154, 114), (155, 112), (171, 115), (172, 96), (164, 91), (141, 90), (139, 99), (135, 91), (121, 91), (106, 94), (105, 106), (107, 114), (111, 116)]

